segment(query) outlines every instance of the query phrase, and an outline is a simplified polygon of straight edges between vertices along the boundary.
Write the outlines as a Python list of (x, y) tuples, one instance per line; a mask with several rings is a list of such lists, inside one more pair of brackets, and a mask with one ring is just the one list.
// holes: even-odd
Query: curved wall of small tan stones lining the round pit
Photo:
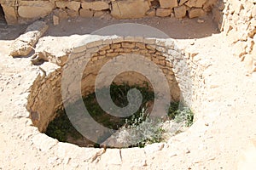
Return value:
[[(201, 91), (204, 90), (203, 82), (201, 82), (203, 68), (200, 64), (193, 62), (194, 56), (180, 51), (173, 39), (86, 35), (84, 41), (79, 44), (78, 48), (73, 48), (68, 60), (66, 57), (63, 58), (61, 63), (66, 63), (65, 65), (58, 66), (54, 70), (44, 71), (32, 85), (26, 108), (31, 113), (30, 118), (33, 125), (38, 127), (40, 132), (46, 130), (49, 122), (55, 118), (55, 111), (62, 107), (61, 77), (63, 69), (68, 69), (69, 65), (82, 64), (85, 59), (84, 54), (88, 54), (90, 51), (92, 53), (89, 65), (84, 69), (82, 79), (83, 95), (94, 92), (93, 83), (96, 74), (92, 73), (96, 73), (109, 59), (113, 59), (119, 54), (136, 53), (142, 54), (159, 65), (171, 87), (172, 99), (179, 100), (181, 94), (195, 113), (201, 107), (200, 102), (203, 99), (200, 96)], [(123, 76), (125, 77), (125, 75)], [(138, 81), (142, 82), (140, 79)], [(73, 85), (70, 84), (67, 88), (70, 90), (70, 94), (73, 94), (72, 87)], [(71, 101), (75, 99), (76, 96), (71, 95)]]

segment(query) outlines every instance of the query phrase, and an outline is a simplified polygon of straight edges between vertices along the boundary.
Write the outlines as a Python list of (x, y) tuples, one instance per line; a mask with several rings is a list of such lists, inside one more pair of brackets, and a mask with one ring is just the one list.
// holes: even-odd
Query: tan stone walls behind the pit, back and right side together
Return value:
[[(220, 31), (236, 47), (249, 72), (255, 71), (256, 8), (253, 0), (81, 0), (81, 1), (11, 1), (1, 0), (1, 11), (8, 24), (29, 23), (52, 16), (54, 24), (68, 17), (101, 17), (117, 19), (143, 17), (201, 17), (212, 13)], [(138, 8), (137, 8), (138, 7)]]

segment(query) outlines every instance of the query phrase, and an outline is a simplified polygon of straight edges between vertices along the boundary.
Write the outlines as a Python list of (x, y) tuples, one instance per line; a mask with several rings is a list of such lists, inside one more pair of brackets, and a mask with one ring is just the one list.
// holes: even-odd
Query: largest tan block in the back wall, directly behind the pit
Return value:
[[(139, 8), (137, 8), (139, 7)], [(117, 19), (135, 19), (145, 16), (149, 9), (148, 1), (127, 0), (112, 3), (111, 14)]]

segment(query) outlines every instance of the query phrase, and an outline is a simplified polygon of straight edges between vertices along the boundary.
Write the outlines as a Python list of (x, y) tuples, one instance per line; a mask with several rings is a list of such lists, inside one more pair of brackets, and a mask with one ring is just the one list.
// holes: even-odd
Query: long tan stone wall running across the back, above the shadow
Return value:
[(111, 14), (117, 19), (144, 16), (195, 18), (210, 12), (212, 0), (75, 0), (25, 1), (0, 0), (9, 24), (26, 23), (53, 14), (57, 24), (68, 17), (100, 17)]

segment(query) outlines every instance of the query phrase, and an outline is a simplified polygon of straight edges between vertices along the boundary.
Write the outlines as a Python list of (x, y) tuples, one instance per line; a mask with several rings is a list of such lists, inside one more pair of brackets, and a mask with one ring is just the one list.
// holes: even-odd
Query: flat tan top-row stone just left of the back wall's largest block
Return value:
[(100, 11), (108, 9), (109, 5), (107, 1), (84, 2), (82, 3), (82, 8)]

